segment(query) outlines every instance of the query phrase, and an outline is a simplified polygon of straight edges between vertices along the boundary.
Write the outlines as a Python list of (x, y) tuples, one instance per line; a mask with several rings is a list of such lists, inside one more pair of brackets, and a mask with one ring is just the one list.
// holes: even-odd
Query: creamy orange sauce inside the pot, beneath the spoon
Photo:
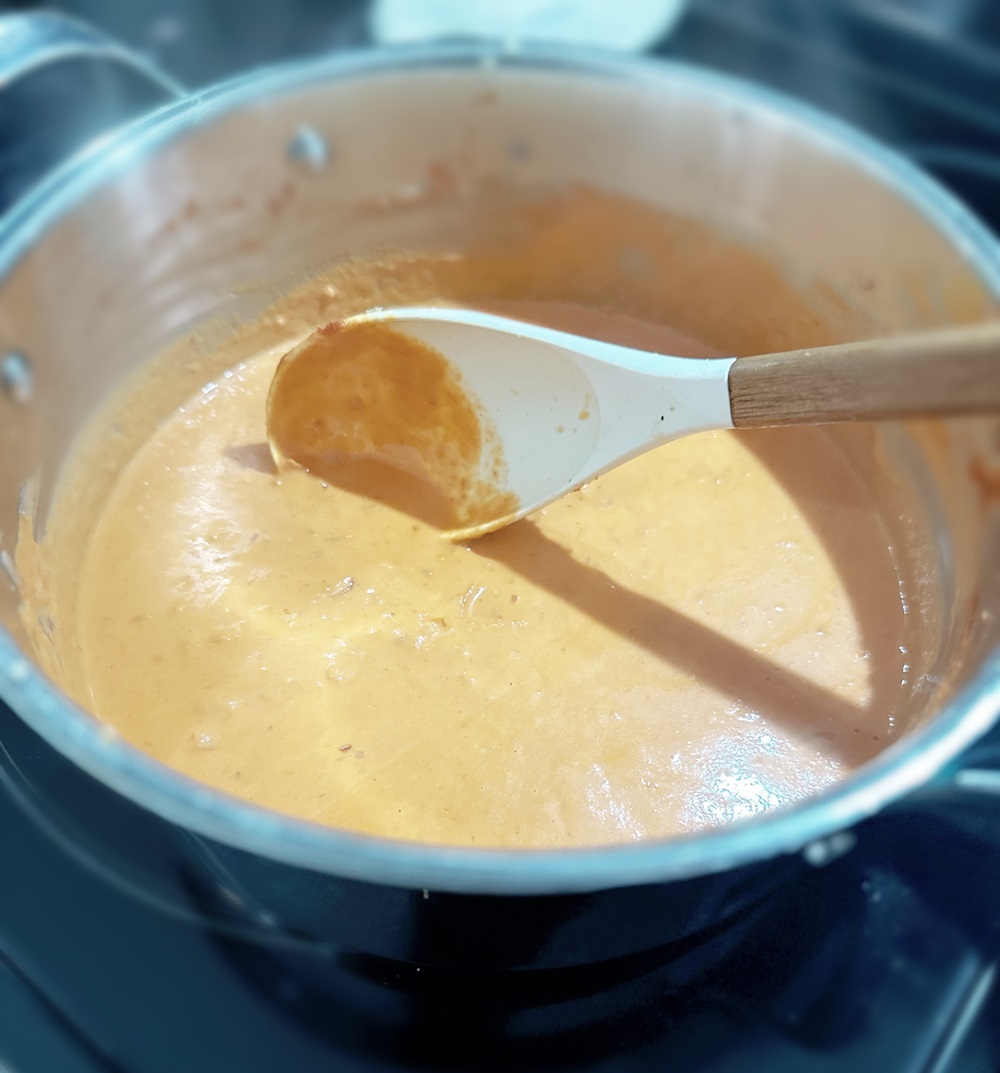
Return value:
[[(99, 471), (99, 426), (46, 538), (55, 574), (79, 562), (62, 571), (65, 687), (203, 782), (460, 846), (694, 831), (813, 794), (881, 749), (911, 623), (864, 430), (692, 437), (467, 545), (350, 482), (275, 470), (278, 317), (300, 339), (330, 312), (474, 302), (667, 352), (737, 349), (711, 310), (696, 341), (695, 310), (649, 297), (680, 225), (588, 195), (574, 231), (575, 196), (529, 214), (502, 256), (376, 259), (279, 303), (244, 358), (161, 408), (90, 516), (74, 489)], [(615, 234), (646, 244), (648, 291)], [(777, 274), (752, 278), (783, 332), (829, 341)], [(627, 292), (639, 305), (599, 297)], [(739, 346), (794, 344), (765, 320)], [(130, 405), (156, 410), (164, 383), (139, 379)]]

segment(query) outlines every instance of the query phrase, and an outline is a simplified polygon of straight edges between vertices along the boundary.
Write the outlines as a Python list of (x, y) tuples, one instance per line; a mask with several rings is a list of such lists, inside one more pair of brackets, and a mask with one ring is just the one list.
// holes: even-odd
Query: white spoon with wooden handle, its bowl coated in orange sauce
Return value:
[(689, 358), (466, 309), (376, 309), (282, 358), (267, 438), (279, 470), (466, 540), (693, 432), (986, 411), (1000, 323)]

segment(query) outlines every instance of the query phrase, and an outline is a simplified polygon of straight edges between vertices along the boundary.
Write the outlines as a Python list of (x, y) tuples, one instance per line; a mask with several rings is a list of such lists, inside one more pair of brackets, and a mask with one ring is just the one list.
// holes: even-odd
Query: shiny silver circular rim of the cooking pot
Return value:
[[(784, 94), (677, 61), (595, 49), (494, 43), (378, 48), (296, 61), (195, 92), (91, 144), (0, 219), (0, 285), (45, 231), (167, 141), (262, 98), (354, 76), (427, 69), (565, 72), (643, 80), (779, 112), (891, 188), (933, 223), (1000, 297), (1000, 245), (918, 167), (853, 127)], [(2, 292), (0, 292), (2, 293)], [(584, 849), (491, 850), (402, 842), (283, 815), (200, 784), (129, 745), (70, 701), (0, 630), (0, 697), (88, 774), (171, 823), (289, 865), (393, 886), (477, 894), (562, 894), (724, 871), (794, 853), (940, 779), (1000, 719), (1000, 650), (928, 725), (822, 794), (697, 834)]]

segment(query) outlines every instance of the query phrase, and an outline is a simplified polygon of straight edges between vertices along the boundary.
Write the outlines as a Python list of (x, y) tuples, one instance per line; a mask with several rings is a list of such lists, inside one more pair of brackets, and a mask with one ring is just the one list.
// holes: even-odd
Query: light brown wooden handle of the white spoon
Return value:
[(1000, 412), (1000, 322), (740, 357), (733, 425)]

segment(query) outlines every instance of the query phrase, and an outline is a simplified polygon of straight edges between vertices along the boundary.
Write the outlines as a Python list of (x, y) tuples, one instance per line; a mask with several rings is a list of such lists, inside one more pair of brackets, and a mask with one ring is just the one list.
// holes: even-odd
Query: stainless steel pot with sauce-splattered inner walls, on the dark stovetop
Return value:
[[(123, 376), (194, 326), (232, 327), (338, 256), (392, 241), (398, 221), (358, 203), (418, 190), (442, 162), (469, 182), (584, 181), (708, 221), (881, 330), (1000, 305), (1000, 248), (947, 193), (857, 132), (751, 85), (488, 45), (267, 71), (119, 130), (0, 222), (8, 568), (25, 483), (41, 474), (42, 527), (60, 460)], [(298, 195), (283, 201), (290, 181)], [(918, 438), (885, 435), (939, 535), (935, 584), (948, 614), (931, 663), (946, 681), (925, 684), (937, 691), (932, 719), (794, 808), (561, 852), (310, 825), (196, 785), (106, 734), (33, 662), (16, 578), (0, 593), (4, 784), (115, 882), (176, 913), (191, 912), (196, 892), (203, 920), (278, 945), (506, 969), (681, 943), (849, 850), (852, 829), (880, 810), (951, 815), (970, 795), (1000, 792), (986, 752), (960, 759), (1000, 715), (998, 511), (970, 476), (970, 466), (996, 473), (996, 428), (948, 432), (944, 469)]]

